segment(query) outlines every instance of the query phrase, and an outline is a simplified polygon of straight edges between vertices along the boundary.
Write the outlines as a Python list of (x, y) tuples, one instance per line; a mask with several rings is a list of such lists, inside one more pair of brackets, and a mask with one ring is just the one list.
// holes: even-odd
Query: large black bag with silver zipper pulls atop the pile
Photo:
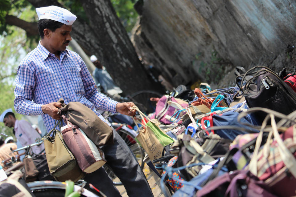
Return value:
[[(258, 70), (261, 68), (261, 70)], [(253, 76), (240, 87), (249, 107), (264, 107), (288, 115), (296, 110), (296, 93), (271, 69), (255, 66), (244, 76)], [(257, 118), (265, 115), (258, 114)]]

